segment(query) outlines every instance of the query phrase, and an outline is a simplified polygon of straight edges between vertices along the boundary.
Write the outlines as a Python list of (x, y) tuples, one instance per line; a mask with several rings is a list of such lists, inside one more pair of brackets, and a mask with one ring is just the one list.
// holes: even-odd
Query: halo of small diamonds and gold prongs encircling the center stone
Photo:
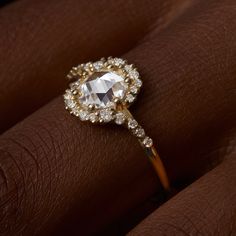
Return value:
[[(82, 88), (96, 73), (110, 73), (111, 76), (114, 75), (114, 78), (118, 78), (118, 80), (123, 78), (123, 82), (120, 82), (123, 87), (117, 87), (121, 86), (117, 84), (113, 88), (113, 91), (114, 89), (123, 89), (122, 96), (121, 90), (117, 92), (118, 97), (114, 96), (110, 98), (111, 95), (108, 93), (106, 96), (111, 101), (102, 107), (96, 104), (83, 104), (81, 101), (86, 94), (82, 91)], [(116, 124), (124, 124), (127, 118), (122, 117), (117, 107), (122, 105), (128, 108), (135, 101), (142, 85), (139, 73), (134, 65), (128, 64), (126, 60), (116, 57), (101, 58), (95, 62), (88, 62), (72, 67), (67, 78), (73, 82), (70, 83), (70, 88), (65, 91), (64, 101), (66, 109), (70, 114), (79, 117), (82, 121), (88, 120), (92, 123), (113, 121)], [(138, 84), (137, 80), (139, 80)], [(116, 114), (118, 114), (118, 118)]]

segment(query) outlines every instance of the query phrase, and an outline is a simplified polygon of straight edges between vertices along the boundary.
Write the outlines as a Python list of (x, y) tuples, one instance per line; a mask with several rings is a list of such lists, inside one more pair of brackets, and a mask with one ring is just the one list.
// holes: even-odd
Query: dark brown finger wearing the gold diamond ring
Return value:
[[(159, 141), (173, 180), (190, 177), (191, 172), (199, 175), (212, 151), (221, 157), (222, 138), (235, 120), (235, 12), (225, 2), (213, 6), (195, 7), (194, 14), (181, 17), (158, 34), (158, 40), (154, 31), (126, 55), (145, 78), (135, 115), (147, 121), (147, 133)], [(223, 20), (227, 27), (222, 35)], [(0, 142), (8, 184), (2, 190), (8, 209), (2, 218), (6, 234), (19, 228), (25, 234), (35, 228), (90, 233), (156, 189), (152, 168), (136, 140), (118, 127), (91, 126), (69, 117), (62, 98), (2, 135)], [(205, 162), (198, 153), (205, 154)], [(12, 214), (9, 209), (17, 207), (19, 212)], [(10, 220), (17, 222), (14, 228)]]

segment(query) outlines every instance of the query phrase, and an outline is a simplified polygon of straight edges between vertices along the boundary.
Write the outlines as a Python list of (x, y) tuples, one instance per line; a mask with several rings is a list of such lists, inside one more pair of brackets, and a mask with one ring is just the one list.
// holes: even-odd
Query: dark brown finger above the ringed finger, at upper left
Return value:
[(124, 53), (189, 1), (23, 0), (2, 9), (0, 131), (58, 95), (71, 65)]

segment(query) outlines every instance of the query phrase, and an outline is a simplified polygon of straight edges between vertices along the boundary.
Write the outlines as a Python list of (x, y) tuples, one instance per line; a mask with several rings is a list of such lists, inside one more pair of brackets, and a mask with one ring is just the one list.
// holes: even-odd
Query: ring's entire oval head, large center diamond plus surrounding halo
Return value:
[[(72, 82), (64, 94), (66, 109), (80, 120), (92, 123), (113, 121), (124, 124), (127, 117), (117, 107), (119, 104), (129, 107), (136, 100), (142, 86), (134, 65), (116, 57), (101, 58), (73, 67), (67, 78)], [(93, 92), (88, 95), (86, 93), (90, 92), (90, 88)], [(107, 94), (106, 91), (101, 94), (100, 91), (105, 89)]]

